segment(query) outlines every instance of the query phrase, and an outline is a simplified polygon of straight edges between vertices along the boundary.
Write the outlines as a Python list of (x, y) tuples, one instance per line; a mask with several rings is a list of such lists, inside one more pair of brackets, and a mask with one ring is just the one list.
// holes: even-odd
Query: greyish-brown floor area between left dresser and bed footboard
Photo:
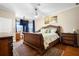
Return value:
[(29, 47), (28, 45), (23, 44), (23, 41), (18, 41), (14, 43), (14, 48), (13, 48), (13, 55), (14, 56), (37, 56), (39, 53)]

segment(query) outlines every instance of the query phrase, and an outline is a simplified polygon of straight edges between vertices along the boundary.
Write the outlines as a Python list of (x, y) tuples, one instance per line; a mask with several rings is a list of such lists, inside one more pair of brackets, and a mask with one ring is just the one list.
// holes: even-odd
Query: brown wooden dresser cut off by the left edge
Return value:
[(13, 36), (8, 33), (0, 33), (0, 56), (13, 55)]

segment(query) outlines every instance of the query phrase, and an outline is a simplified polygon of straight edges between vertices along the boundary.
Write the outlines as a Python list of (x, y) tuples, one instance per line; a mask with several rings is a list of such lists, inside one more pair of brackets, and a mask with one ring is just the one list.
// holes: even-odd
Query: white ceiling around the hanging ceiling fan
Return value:
[[(36, 6), (37, 3), (0, 3), (0, 9), (12, 11), (18, 17), (33, 17), (35, 15), (34, 7)], [(41, 16), (52, 15), (72, 6), (75, 6), (75, 3), (40, 3), (38, 13)]]

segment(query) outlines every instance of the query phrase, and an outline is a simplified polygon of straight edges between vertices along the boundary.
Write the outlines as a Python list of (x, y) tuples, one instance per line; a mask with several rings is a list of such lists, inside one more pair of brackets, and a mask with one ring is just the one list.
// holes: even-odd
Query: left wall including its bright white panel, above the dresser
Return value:
[[(4, 24), (5, 23), (5, 24)], [(8, 26), (9, 25), (9, 26)], [(0, 32), (11, 32), (15, 39), (15, 13), (0, 9)]]

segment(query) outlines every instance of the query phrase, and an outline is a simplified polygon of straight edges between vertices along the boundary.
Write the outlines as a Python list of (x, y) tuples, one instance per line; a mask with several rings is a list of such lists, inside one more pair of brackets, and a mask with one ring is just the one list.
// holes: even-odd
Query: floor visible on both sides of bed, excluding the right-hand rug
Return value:
[[(38, 51), (23, 44), (22, 42), (23, 41), (19, 41), (14, 44), (14, 54), (13, 54), (14, 56), (40, 56)], [(56, 44), (54, 48), (62, 50), (61, 56), (79, 56), (79, 48), (76, 47), (59, 43)]]

